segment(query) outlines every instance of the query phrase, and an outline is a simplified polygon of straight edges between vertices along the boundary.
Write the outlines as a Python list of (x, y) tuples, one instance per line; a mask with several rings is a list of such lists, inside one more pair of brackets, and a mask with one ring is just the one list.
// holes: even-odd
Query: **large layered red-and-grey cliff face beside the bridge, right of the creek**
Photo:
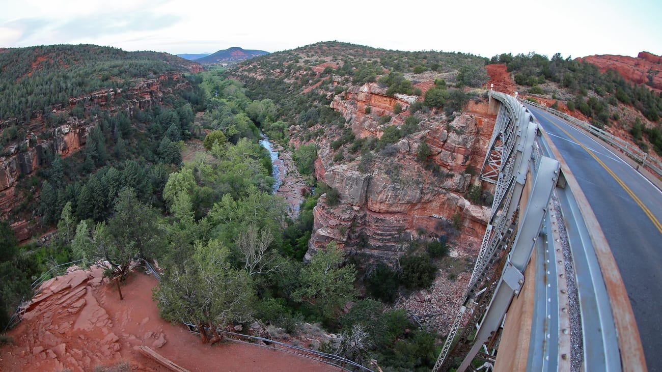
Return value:
[[(328, 142), (320, 144), (315, 175), (338, 191), (340, 204), (329, 207), (326, 197), (320, 197), (306, 259), (334, 240), (348, 254), (392, 261), (412, 238), (457, 234), (453, 214), (460, 216), (463, 239), (482, 236), (489, 209), (463, 197), (472, 179), (464, 170), (469, 164), (479, 167), (485, 152), (475, 149), (485, 142), (483, 137), (489, 141), (491, 128), (481, 136), (471, 115), (458, 115), (449, 124), (429, 118), (422, 126), (426, 129), (395, 144), (397, 154), (377, 158), (363, 171), (360, 160), (334, 165)], [(433, 176), (416, 161), (422, 142), (443, 174)]]

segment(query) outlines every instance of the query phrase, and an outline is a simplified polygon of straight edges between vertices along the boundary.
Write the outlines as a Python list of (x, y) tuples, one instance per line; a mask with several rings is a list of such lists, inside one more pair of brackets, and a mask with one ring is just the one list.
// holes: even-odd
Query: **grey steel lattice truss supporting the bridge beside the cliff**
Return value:
[[(532, 229), (534, 229), (532, 226), (536, 226), (536, 223), (538, 223), (538, 229), (540, 229), (540, 224), (542, 224), (542, 222), (538, 222), (538, 218), (542, 218), (538, 214), (530, 217), (526, 223), (522, 224), (523, 226), (518, 226), (520, 224), (515, 219), (516, 216), (526, 215), (527, 212), (526, 210), (518, 211), (518, 209), (524, 183), (526, 182), (526, 175), (530, 171), (532, 148), (534, 147), (534, 139), (538, 131), (537, 126), (530, 122), (530, 114), (514, 97), (491, 91), (491, 99), (498, 99), (501, 103), (496, 116), (495, 130), (490, 140), (489, 150), (485, 156), (483, 168), (481, 169), (481, 179), (496, 184), (491, 218), (485, 230), (481, 250), (471, 273), (469, 287), (433, 371), (448, 370), (449, 350), (451, 350), (458, 330), (460, 328), (464, 328), (465, 331), (467, 330), (468, 325), (462, 327), (462, 319), (465, 318), (463, 315), (467, 308), (471, 308), (472, 304), (475, 304), (475, 306), (473, 306), (469, 318), (475, 320), (483, 319), (481, 327), (479, 327), (476, 334), (473, 347), (469, 345), (466, 337), (463, 336), (462, 340), (459, 340), (457, 345), (452, 347), (453, 351), (451, 352), (457, 356), (458, 352), (466, 353), (468, 351), (465, 357), (466, 363), (463, 363), (464, 369), (468, 363), (467, 360), (471, 361), (488, 340), (489, 332), (491, 332), (490, 328), (495, 328), (495, 324), (496, 328), (498, 328), (498, 325), (501, 324), (503, 314), (507, 308), (504, 304), (510, 303), (514, 291), (519, 290), (523, 283), (523, 275), (520, 272), (523, 270), (520, 270), (521, 267), (519, 266), (515, 267), (512, 265), (510, 259), (508, 259), (507, 263), (503, 261), (495, 266), (495, 263), (499, 261), (498, 257), (505, 257), (500, 256), (498, 252), (502, 252), (503, 250), (512, 251), (517, 246), (520, 246), (517, 251), (522, 251), (526, 255), (526, 250), (532, 249), (532, 244), (526, 242), (526, 239), (522, 240), (520, 244), (517, 243), (522, 229), (526, 228), (524, 235), (529, 236), (532, 234)], [(540, 160), (539, 154), (533, 155), (536, 158), (535, 170), (537, 173), (541, 173), (541, 170), (538, 168), (541, 168), (542, 173), (548, 178), (550, 178), (550, 175), (553, 176), (555, 172), (557, 173), (558, 162), (549, 158)], [(541, 161), (544, 163), (544, 167), (542, 163), (538, 163)], [(546, 205), (551, 196), (551, 189), (553, 189), (554, 184), (555, 179), (551, 183), (547, 181), (544, 185), (538, 187), (535, 193), (537, 198), (535, 203), (531, 203), (530, 200), (527, 206), (536, 206), (540, 205), (540, 203)], [(477, 295), (480, 295), (481, 298), (478, 303), (474, 302)], [(487, 306), (486, 301), (489, 301), (489, 306)], [(496, 305), (494, 305), (495, 302)], [(490, 311), (492, 306), (495, 306), (495, 310)], [(486, 325), (483, 326), (483, 324)], [(464, 369), (461, 366), (459, 371), (463, 371)]]

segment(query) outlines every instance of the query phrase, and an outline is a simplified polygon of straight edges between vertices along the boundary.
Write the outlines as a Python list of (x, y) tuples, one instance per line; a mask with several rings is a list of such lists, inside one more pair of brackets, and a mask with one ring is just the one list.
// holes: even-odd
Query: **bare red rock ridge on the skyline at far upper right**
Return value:
[(647, 86), (662, 91), (662, 57), (648, 52), (640, 52), (637, 58), (629, 56), (587, 56), (577, 58), (578, 61), (589, 62), (600, 68), (600, 72), (615, 70), (624, 79), (635, 84)]

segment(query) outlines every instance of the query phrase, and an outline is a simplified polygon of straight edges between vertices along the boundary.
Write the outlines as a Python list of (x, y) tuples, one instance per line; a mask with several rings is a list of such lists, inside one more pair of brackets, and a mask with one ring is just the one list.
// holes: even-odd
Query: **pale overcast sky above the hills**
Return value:
[(277, 52), (338, 40), (485, 57), (662, 54), (660, 0), (541, 3), (0, 0), (0, 47), (97, 44), (183, 54), (232, 46)]

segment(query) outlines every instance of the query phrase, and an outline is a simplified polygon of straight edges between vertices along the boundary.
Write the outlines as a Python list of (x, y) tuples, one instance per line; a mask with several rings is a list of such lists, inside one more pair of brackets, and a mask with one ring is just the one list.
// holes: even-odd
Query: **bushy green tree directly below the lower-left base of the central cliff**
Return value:
[(293, 299), (318, 306), (326, 318), (338, 308), (354, 299), (356, 269), (353, 264), (344, 265), (343, 252), (336, 242), (330, 242), (326, 250), (318, 251), (310, 263), (301, 269), (301, 287), (293, 293)]

